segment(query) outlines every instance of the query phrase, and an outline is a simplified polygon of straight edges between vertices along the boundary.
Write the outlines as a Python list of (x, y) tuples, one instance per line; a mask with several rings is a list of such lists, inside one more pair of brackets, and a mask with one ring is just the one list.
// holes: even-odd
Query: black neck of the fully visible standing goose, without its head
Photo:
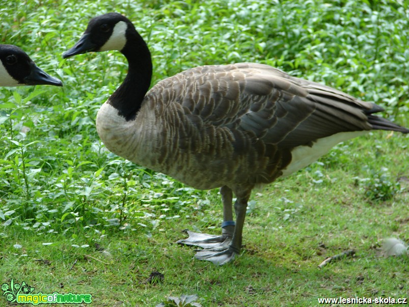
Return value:
[(128, 74), (110, 97), (110, 104), (126, 120), (132, 120), (138, 113), (152, 78), (152, 60), (148, 46), (136, 30), (129, 32), (126, 45), (121, 50), (128, 60)]

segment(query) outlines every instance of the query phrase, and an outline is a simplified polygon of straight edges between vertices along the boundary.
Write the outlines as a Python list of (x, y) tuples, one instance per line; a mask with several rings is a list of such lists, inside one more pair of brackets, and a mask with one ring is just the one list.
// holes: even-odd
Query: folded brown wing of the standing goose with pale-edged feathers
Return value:
[(198, 116), (215, 127), (251, 131), (265, 142), (285, 147), (307, 145), (339, 132), (373, 129), (368, 115), (382, 110), (255, 63), (196, 67), (167, 82), (179, 85), (181, 90), (172, 88), (179, 92), (176, 100), (192, 119)]

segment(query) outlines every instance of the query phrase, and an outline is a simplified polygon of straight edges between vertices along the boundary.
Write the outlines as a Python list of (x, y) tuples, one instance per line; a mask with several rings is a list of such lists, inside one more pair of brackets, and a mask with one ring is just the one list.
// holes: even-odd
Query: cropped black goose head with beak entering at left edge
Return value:
[(19, 47), (0, 44), (0, 86), (56, 85), (63, 83), (41, 70)]

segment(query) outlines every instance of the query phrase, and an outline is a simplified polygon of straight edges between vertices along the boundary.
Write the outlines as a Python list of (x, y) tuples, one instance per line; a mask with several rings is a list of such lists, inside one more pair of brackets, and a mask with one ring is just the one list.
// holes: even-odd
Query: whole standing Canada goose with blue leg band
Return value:
[(196, 258), (215, 264), (239, 253), (256, 184), (289, 175), (370, 130), (409, 132), (372, 115), (383, 110), (375, 104), (262, 64), (195, 67), (148, 91), (149, 49), (118, 13), (91, 19), (63, 57), (104, 50), (119, 50), (129, 70), (98, 111), (98, 135), (109, 150), (134, 163), (197, 189), (220, 188), (222, 235), (189, 232), (178, 241), (204, 248)]

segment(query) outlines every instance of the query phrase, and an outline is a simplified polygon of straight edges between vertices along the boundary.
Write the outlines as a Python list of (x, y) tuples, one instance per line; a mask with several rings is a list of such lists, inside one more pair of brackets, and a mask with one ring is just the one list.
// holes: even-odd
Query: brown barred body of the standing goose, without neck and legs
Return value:
[[(98, 112), (97, 131), (116, 155), (189, 186), (252, 187), (361, 134), (350, 132), (408, 132), (372, 115), (378, 111), (372, 103), (277, 68), (238, 63), (195, 67), (160, 81), (131, 120), (108, 99)], [(324, 138), (326, 145), (315, 149)], [(314, 157), (304, 159), (308, 148)], [(297, 150), (302, 153), (294, 155)]]

